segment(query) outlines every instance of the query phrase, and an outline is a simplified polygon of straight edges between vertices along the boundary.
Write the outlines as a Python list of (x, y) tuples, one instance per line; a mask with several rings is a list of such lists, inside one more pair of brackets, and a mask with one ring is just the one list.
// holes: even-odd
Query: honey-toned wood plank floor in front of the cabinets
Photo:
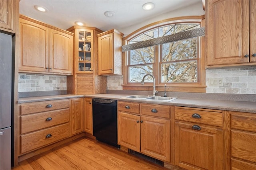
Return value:
[(124, 150), (82, 137), (19, 162), (12, 170), (181, 170), (162, 167)]

